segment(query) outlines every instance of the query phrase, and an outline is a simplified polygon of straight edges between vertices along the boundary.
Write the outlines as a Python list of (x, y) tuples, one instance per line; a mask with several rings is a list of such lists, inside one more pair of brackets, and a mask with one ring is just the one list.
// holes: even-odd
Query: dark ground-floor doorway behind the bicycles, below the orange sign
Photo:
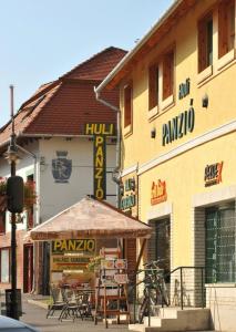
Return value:
[(151, 220), (153, 228), (148, 240), (148, 260), (160, 260), (160, 268), (165, 272), (171, 270), (171, 222), (170, 218)]

